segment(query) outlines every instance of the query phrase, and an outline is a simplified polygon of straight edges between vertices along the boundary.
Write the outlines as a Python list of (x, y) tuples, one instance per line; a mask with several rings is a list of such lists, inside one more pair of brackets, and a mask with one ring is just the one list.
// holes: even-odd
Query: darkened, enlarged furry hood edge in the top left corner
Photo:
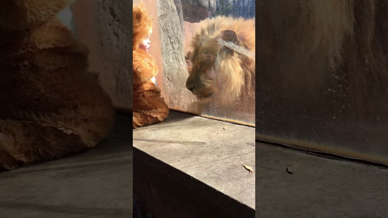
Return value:
[(0, 24), (8, 29), (28, 29), (49, 21), (76, 0), (1, 0)]

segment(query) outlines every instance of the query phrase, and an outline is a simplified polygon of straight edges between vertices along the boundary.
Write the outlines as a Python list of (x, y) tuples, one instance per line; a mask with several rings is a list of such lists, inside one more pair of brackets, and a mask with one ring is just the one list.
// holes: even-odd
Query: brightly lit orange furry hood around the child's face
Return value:
[(139, 5), (133, 5), (133, 50), (141, 40), (152, 33), (152, 19), (145, 9), (144, 2)]

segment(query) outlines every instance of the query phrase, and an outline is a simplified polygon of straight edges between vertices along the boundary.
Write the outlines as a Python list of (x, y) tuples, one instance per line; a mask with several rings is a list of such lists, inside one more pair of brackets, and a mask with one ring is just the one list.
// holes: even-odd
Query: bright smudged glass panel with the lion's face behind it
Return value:
[(254, 126), (255, 0), (144, 2), (169, 108)]

